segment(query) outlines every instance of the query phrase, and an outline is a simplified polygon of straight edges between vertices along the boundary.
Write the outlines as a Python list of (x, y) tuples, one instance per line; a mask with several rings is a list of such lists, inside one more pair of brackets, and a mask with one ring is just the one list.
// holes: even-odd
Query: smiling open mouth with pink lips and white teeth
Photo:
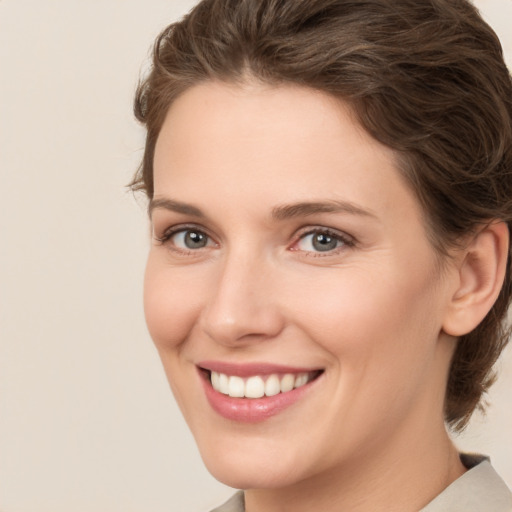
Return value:
[(294, 404), (324, 373), (227, 363), (203, 363), (198, 370), (212, 408), (227, 419), (246, 423), (263, 421)]

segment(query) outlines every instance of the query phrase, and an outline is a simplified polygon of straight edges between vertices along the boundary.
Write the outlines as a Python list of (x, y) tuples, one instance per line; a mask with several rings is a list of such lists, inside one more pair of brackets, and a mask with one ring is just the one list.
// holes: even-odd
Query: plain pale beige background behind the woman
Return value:
[[(0, 511), (202, 511), (203, 468), (142, 313), (131, 113), (192, 0), (0, 0)], [(512, 62), (512, 0), (478, 0)], [(512, 352), (458, 442), (512, 485)], [(200, 489), (196, 491), (195, 489)]]

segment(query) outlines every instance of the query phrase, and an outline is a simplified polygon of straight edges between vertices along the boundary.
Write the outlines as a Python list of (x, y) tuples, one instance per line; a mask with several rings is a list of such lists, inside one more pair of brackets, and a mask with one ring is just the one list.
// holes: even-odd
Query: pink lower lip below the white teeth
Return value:
[(212, 409), (228, 420), (242, 423), (258, 423), (279, 414), (300, 400), (319, 378), (320, 376), (300, 388), (295, 388), (286, 393), (278, 393), (274, 396), (233, 398), (215, 391), (210, 379), (205, 377), (204, 374), (201, 375), (206, 398)]

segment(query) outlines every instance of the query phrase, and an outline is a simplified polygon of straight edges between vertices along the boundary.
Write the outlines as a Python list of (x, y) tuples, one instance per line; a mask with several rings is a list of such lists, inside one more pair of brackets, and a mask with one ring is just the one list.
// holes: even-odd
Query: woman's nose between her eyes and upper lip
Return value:
[(275, 338), (285, 324), (275, 270), (261, 257), (226, 257), (200, 318), (207, 336), (232, 347)]

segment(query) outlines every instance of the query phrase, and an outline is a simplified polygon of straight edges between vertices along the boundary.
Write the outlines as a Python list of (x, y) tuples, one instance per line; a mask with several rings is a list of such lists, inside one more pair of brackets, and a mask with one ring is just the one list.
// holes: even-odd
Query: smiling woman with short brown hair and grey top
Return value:
[(218, 511), (512, 510), (446, 431), (507, 341), (511, 98), (465, 0), (205, 0), (158, 38), (145, 311)]

